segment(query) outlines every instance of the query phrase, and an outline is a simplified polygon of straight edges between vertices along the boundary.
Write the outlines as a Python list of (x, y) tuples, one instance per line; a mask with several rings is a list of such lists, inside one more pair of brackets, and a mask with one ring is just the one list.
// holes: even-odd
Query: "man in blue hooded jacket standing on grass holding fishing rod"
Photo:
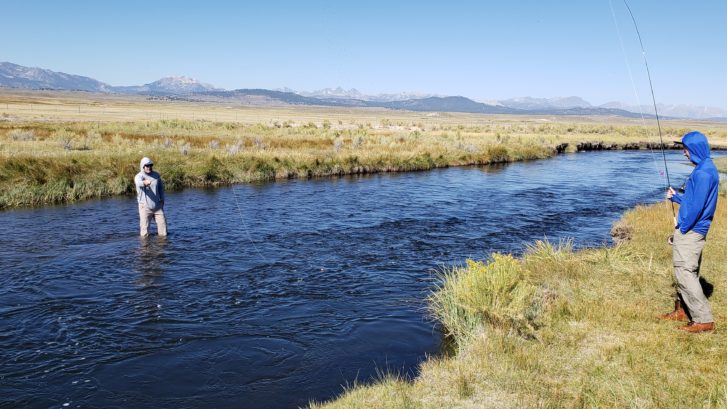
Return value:
[(674, 311), (660, 319), (689, 323), (680, 330), (696, 333), (714, 330), (714, 317), (709, 301), (699, 283), (699, 267), (709, 226), (712, 223), (717, 197), (719, 174), (709, 157), (709, 143), (701, 132), (689, 132), (680, 142), (684, 156), (696, 165), (687, 180), (683, 195), (671, 187), (667, 198), (679, 204), (679, 217), (674, 230), (672, 259), (677, 282)]

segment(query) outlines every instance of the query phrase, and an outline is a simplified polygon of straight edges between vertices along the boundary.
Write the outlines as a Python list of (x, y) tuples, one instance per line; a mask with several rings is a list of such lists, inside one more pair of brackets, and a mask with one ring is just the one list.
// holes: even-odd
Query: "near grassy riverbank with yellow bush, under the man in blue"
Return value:
[(638, 207), (618, 223), (630, 240), (573, 251), (534, 244), (446, 273), (433, 314), (456, 342), (413, 382), (390, 376), (330, 408), (727, 407), (727, 197), (702, 274), (714, 286), (711, 334), (657, 321), (673, 307), (671, 210)]

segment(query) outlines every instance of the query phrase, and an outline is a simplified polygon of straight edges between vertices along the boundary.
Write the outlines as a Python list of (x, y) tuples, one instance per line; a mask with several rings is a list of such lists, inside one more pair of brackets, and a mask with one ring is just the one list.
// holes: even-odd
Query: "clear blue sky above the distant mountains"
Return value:
[[(657, 102), (727, 108), (727, 2), (629, 4)], [(111, 85), (186, 75), (227, 89), (651, 102), (622, 0), (3, 0), (0, 9), (0, 61)]]

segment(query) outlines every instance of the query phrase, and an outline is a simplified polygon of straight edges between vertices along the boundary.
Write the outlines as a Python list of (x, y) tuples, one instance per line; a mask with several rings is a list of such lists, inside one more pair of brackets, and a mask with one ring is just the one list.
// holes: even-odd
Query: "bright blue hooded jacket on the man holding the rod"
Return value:
[(691, 161), (697, 165), (687, 179), (683, 195), (674, 194), (672, 202), (679, 203), (677, 228), (682, 234), (689, 230), (706, 236), (717, 208), (719, 173), (709, 157), (709, 143), (701, 132), (689, 132), (682, 137)]

